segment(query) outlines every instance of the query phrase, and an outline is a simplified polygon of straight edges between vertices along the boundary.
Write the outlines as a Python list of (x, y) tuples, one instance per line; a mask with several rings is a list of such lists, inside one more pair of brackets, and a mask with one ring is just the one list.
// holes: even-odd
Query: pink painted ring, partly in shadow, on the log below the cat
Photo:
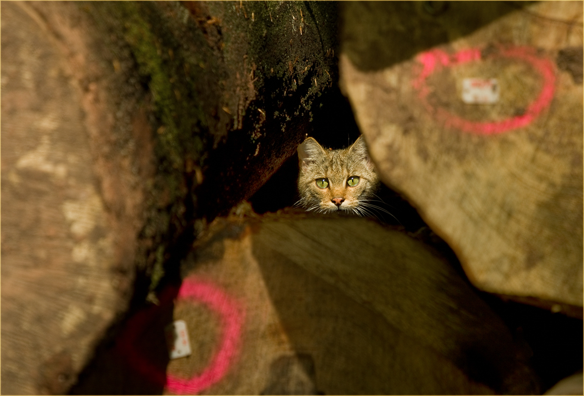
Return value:
[(241, 329), (244, 323), (245, 311), (237, 300), (228, 296), (223, 290), (211, 283), (197, 279), (185, 279), (178, 291), (176, 300), (192, 300), (203, 303), (211, 311), (217, 313), (221, 321), (221, 343), (208, 366), (192, 378), (184, 379), (166, 374), (138, 352), (133, 343), (136, 335), (156, 318), (156, 310), (172, 302), (176, 289), (168, 288), (159, 297), (160, 305), (150, 310), (141, 311), (128, 322), (126, 331), (121, 337), (119, 346), (124, 350), (128, 361), (157, 384), (176, 394), (198, 394), (217, 383), (227, 374), (239, 351)]

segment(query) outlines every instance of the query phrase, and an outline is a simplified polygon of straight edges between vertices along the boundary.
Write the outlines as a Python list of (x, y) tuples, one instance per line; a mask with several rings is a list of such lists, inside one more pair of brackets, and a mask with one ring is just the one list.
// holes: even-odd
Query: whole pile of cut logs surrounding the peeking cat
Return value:
[[(343, 84), (384, 183), (475, 286), (573, 312), (582, 5), (484, 5), (473, 23), (446, 23), (468, 6), (346, 5)], [(529, 347), (456, 259), (373, 220), (235, 206), (326, 107), (336, 6), (1, 7), (2, 393), (544, 390)], [(357, 34), (353, 14), (369, 21)], [(388, 14), (391, 43), (352, 46), (379, 26), (367, 18)], [(395, 51), (371, 50), (384, 46)], [(498, 105), (456, 102), (461, 71), (485, 70), (501, 83)], [(505, 117), (529, 122), (474, 130)], [(342, 128), (321, 129), (345, 144)], [(288, 202), (274, 190), (267, 199)], [(177, 319), (192, 351), (171, 360)]]

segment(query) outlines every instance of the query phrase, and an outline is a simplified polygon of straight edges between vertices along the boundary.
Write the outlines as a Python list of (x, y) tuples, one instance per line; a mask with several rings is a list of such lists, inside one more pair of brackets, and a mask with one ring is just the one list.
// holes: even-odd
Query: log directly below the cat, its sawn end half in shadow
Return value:
[[(539, 391), (529, 350), (433, 249), (365, 218), (245, 213), (210, 224), (180, 287), (128, 320), (113, 367), (75, 393), (119, 393), (124, 363), (167, 394)], [(141, 347), (164, 318), (192, 347), (166, 370)]]

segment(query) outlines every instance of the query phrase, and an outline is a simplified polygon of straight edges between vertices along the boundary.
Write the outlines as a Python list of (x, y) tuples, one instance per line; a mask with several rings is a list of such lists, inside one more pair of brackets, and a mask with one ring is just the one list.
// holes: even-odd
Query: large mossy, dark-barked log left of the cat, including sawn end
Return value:
[(336, 6), (1, 7), (2, 392), (62, 394), (296, 151), (336, 81)]

